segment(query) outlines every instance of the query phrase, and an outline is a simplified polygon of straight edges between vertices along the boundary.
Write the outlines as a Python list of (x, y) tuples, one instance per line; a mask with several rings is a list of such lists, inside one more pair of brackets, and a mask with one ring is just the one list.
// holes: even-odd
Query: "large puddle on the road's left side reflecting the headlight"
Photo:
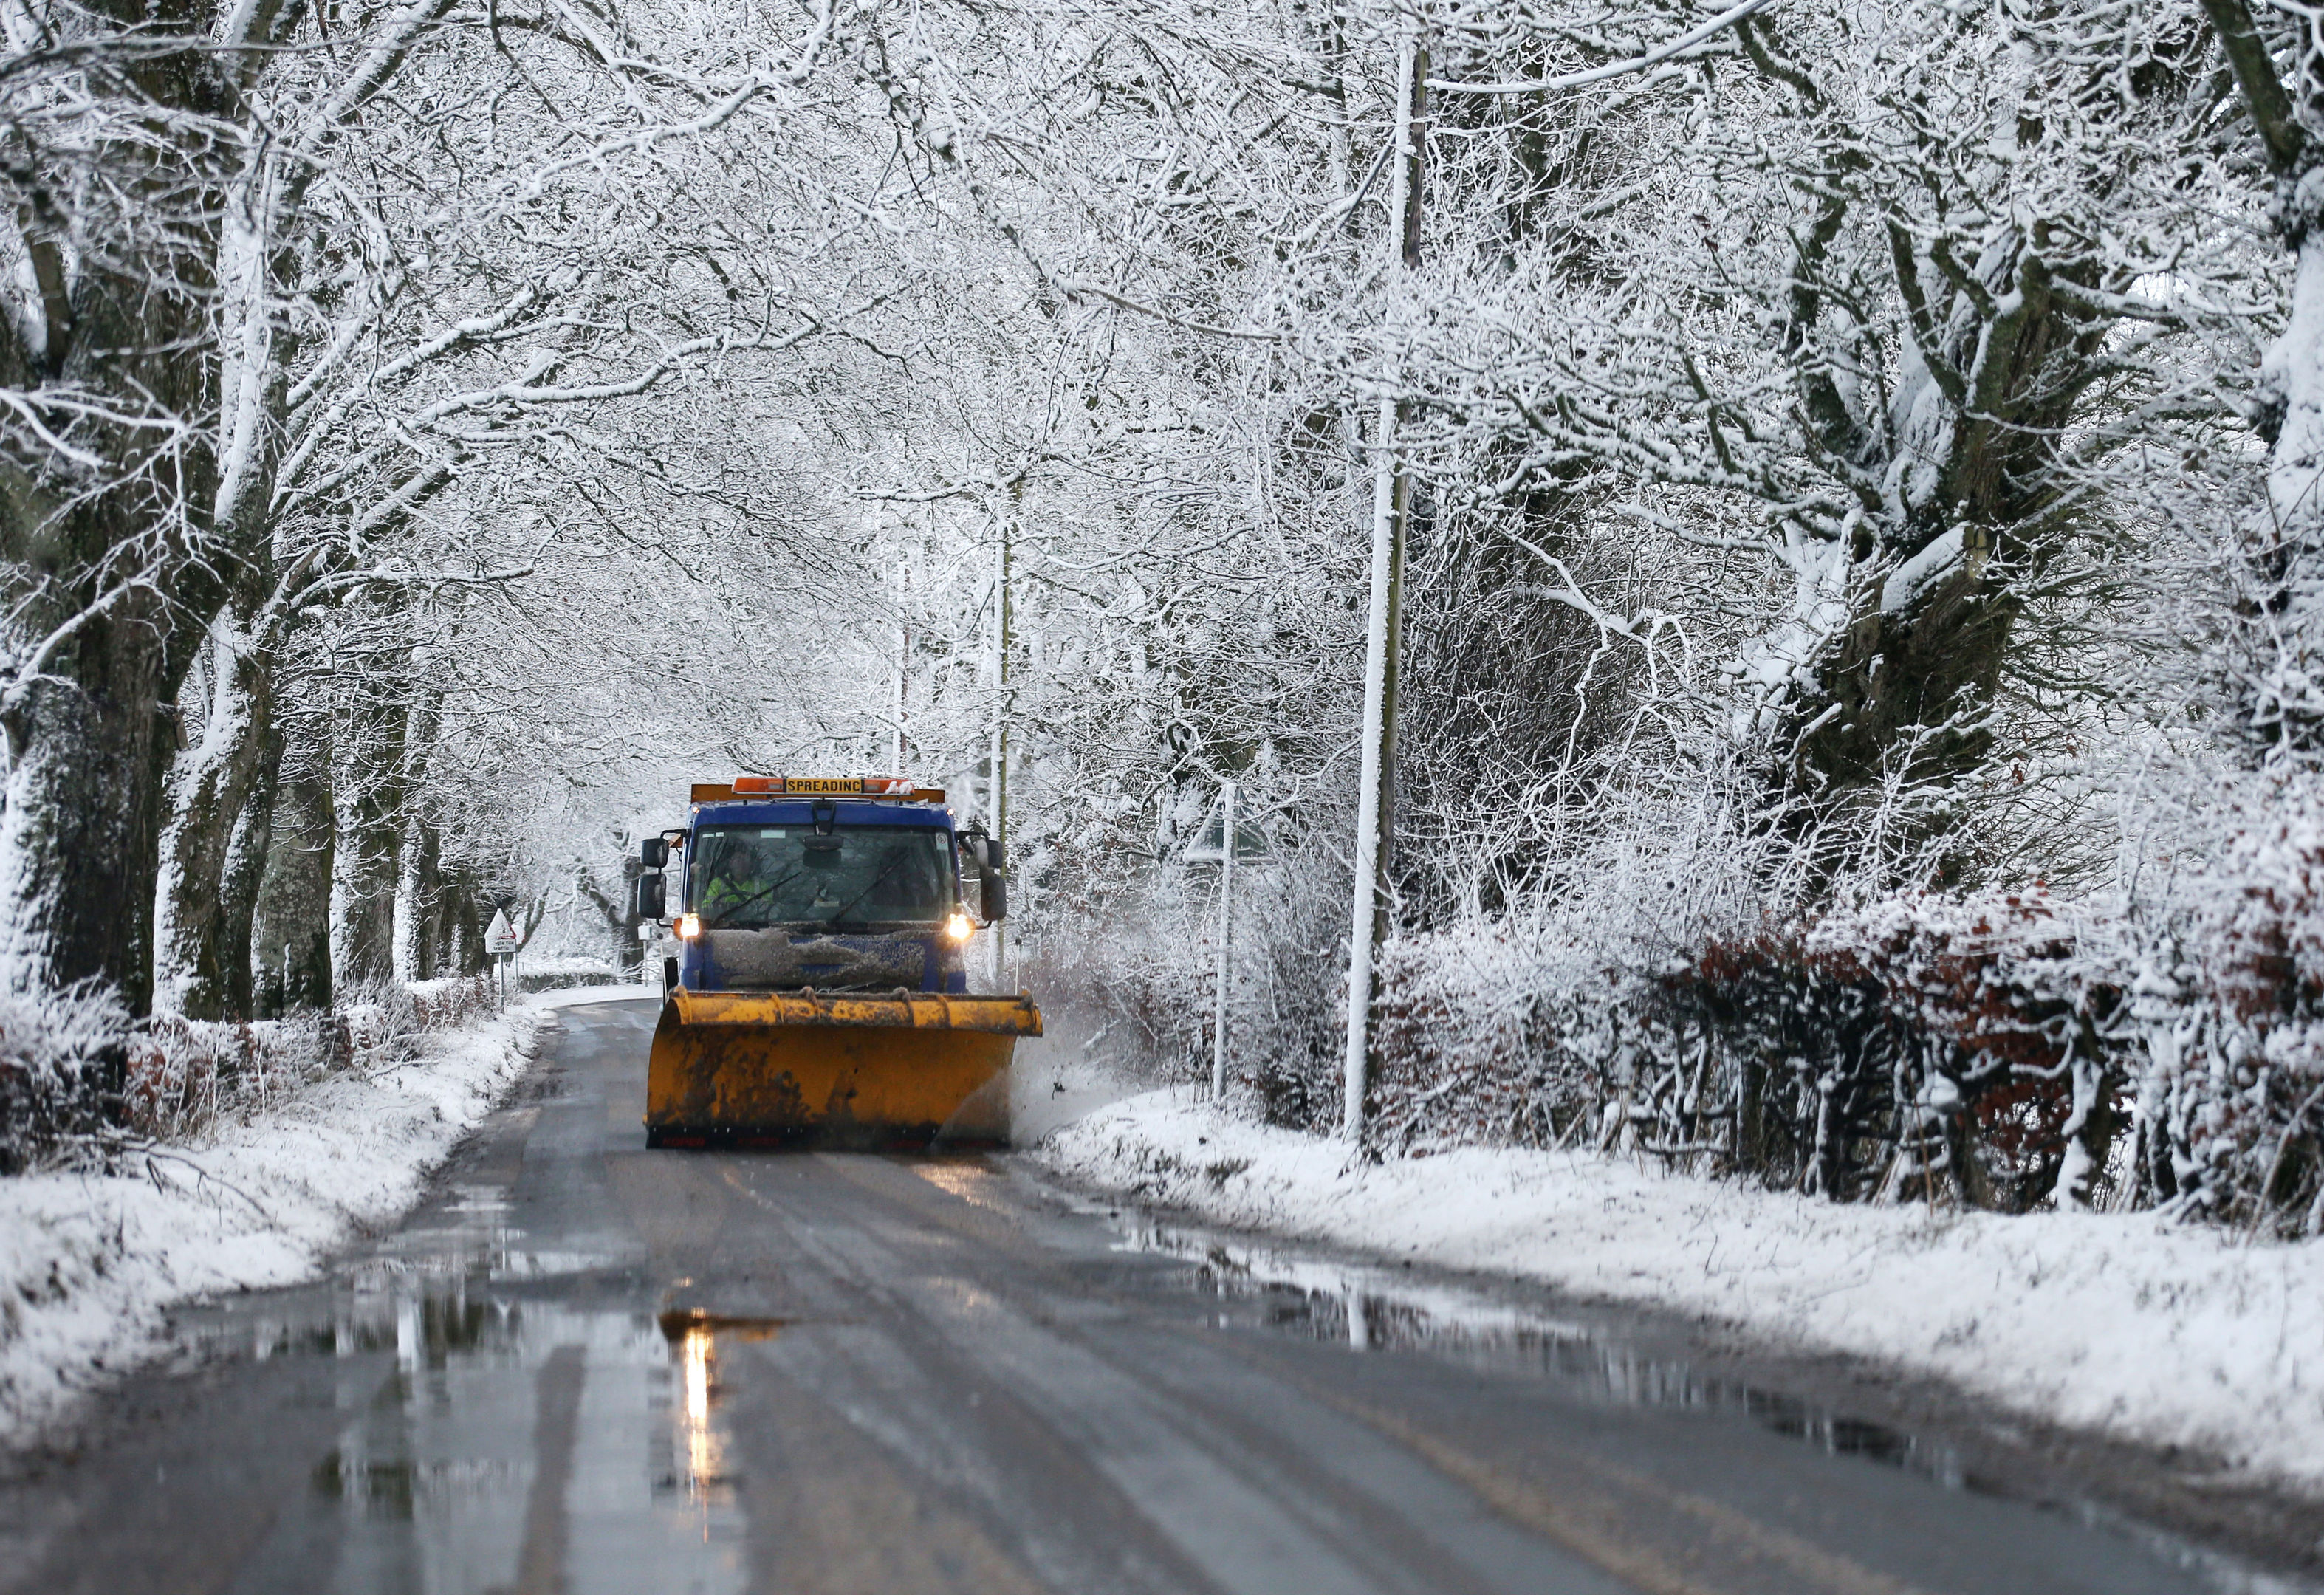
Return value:
[(744, 1590), (718, 1358), (781, 1325), (528, 1288), (627, 1263), (532, 1249), (497, 1193), (456, 1190), (330, 1283), (186, 1314), (191, 1358), (346, 1365), (337, 1444), (244, 1588)]

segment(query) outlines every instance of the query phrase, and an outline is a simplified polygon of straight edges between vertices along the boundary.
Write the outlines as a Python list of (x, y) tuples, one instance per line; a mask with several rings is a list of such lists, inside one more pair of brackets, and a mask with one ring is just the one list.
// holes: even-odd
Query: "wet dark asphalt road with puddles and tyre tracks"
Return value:
[(2301, 1588), (1009, 1160), (648, 1153), (651, 1007), (562, 1018), (397, 1235), (0, 1481), (0, 1590)]

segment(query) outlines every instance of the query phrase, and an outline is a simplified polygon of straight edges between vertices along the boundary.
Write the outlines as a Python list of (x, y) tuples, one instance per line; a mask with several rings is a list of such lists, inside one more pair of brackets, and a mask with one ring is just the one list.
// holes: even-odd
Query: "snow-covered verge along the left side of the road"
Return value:
[(0, 1179), (0, 1444), (149, 1356), (170, 1304), (295, 1283), (402, 1214), (548, 1018), (516, 1002), (119, 1174)]

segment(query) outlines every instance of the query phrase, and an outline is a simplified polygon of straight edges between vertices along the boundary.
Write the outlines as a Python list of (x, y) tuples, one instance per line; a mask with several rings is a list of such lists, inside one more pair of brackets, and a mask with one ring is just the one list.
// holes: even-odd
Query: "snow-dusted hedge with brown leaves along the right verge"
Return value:
[[(1713, 839), (1613, 846), (1555, 893), (1390, 939), (1371, 1144), (1636, 1151), (1841, 1202), (2324, 1237), (2324, 788), (2266, 786), (2154, 844), (2138, 891), (1803, 900), (1764, 884), (1766, 835)], [(1269, 1123), (1329, 1135), (1343, 902), (1253, 877), (1229, 1072)], [(1097, 923), (1053, 937), (1034, 986), (1125, 1072), (1206, 1079), (1208, 916), (1160, 916), (1136, 946)]]

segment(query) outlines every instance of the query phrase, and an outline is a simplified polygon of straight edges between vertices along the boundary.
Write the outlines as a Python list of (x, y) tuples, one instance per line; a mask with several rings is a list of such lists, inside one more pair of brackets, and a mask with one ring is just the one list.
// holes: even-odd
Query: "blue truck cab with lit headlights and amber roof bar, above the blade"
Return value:
[(1004, 911), (999, 846), (895, 777), (697, 784), (686, 828), (646, 842), (644, 865), (639, 918), (676, 935), (665, 993), (967, 995), (967, 944)]

